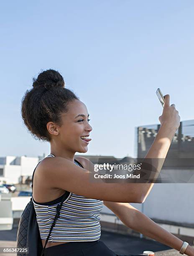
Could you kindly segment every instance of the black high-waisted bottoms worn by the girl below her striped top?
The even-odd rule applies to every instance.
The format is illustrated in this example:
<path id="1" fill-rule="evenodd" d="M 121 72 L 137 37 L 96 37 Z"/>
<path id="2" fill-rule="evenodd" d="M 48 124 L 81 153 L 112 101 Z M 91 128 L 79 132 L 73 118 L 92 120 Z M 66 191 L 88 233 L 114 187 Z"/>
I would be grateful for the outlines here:
<path id="1" fill-rule="evenodd" d="M 102 241 L 69 242 L 45 249 L 45 256 L 121 256 L 111 251 Z M 123 255 L 123 254 L 122 254 Z M 123 255 L 123 256 L 130 256 Z"/>

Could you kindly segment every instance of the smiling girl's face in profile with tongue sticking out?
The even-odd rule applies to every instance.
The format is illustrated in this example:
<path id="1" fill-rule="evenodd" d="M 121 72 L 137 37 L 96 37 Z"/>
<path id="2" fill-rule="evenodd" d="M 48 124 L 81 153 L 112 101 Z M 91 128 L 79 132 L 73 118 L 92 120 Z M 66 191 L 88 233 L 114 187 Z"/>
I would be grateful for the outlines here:
<path id="1" fill-rule="evenodd" d="M 74 100 L 68 105 L 69 111 L 61 114 L 63 124 L 59 127 L 59 140 L 68 151 L 85 153 L 88 143 L 81 139 L 92 131 L 89 114 L 84 103 Z"/>

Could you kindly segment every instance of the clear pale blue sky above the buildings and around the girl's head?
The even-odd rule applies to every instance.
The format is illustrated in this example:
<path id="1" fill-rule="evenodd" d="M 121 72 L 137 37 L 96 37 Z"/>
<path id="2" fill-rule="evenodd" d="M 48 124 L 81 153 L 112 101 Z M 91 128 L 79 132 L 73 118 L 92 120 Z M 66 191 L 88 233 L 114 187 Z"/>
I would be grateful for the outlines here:
<path id="1" fill-rule="evenodd" d="M 32 77 L 56 69 L 86 105 L 86 154 L 134 156 L 135 127 L 159 123 L 156 89 L 194 119 L 194 1 L 0 3 L 0 156 L 49 154 L 20 115 Z"/>

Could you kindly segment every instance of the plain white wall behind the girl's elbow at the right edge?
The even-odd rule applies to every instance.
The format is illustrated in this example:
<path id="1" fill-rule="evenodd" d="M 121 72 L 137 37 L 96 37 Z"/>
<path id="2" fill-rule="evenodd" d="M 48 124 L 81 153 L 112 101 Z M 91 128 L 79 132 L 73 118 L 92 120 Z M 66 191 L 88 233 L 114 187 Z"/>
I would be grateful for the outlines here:
<path id="1" fill-rule="evenodd" d="M 130 203 L 146 216 L 194 225 L 194 184 L 154 184 L 143 204 Z M 111 213 L 107 207 L 102 212 Z"/>

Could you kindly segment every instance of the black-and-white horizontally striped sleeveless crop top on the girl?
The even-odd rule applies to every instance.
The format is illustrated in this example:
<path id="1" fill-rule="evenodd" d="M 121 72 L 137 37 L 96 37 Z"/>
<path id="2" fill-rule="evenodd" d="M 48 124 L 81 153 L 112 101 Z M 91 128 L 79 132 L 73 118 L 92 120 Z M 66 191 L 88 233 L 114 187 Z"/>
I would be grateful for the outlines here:
<path id="1" fill-rule="evenodd" d="M 46 157 L 52 156 L 54 155 Z M 76 161 L 74 163 L 79 165 Z M 62 197 L 63 195 L 50 202 L 38 203 L 33 200 L 32 196 L 41 239 L 46 240 L 56 215 L 56 207 L 61 203 Z M 101 200 L 88 199 L 71 192 L 63 202 L 60 216 L 48 241 L 81 242 L 100 239 L 100 211 L 102 207 L 103 201 Z"/>

